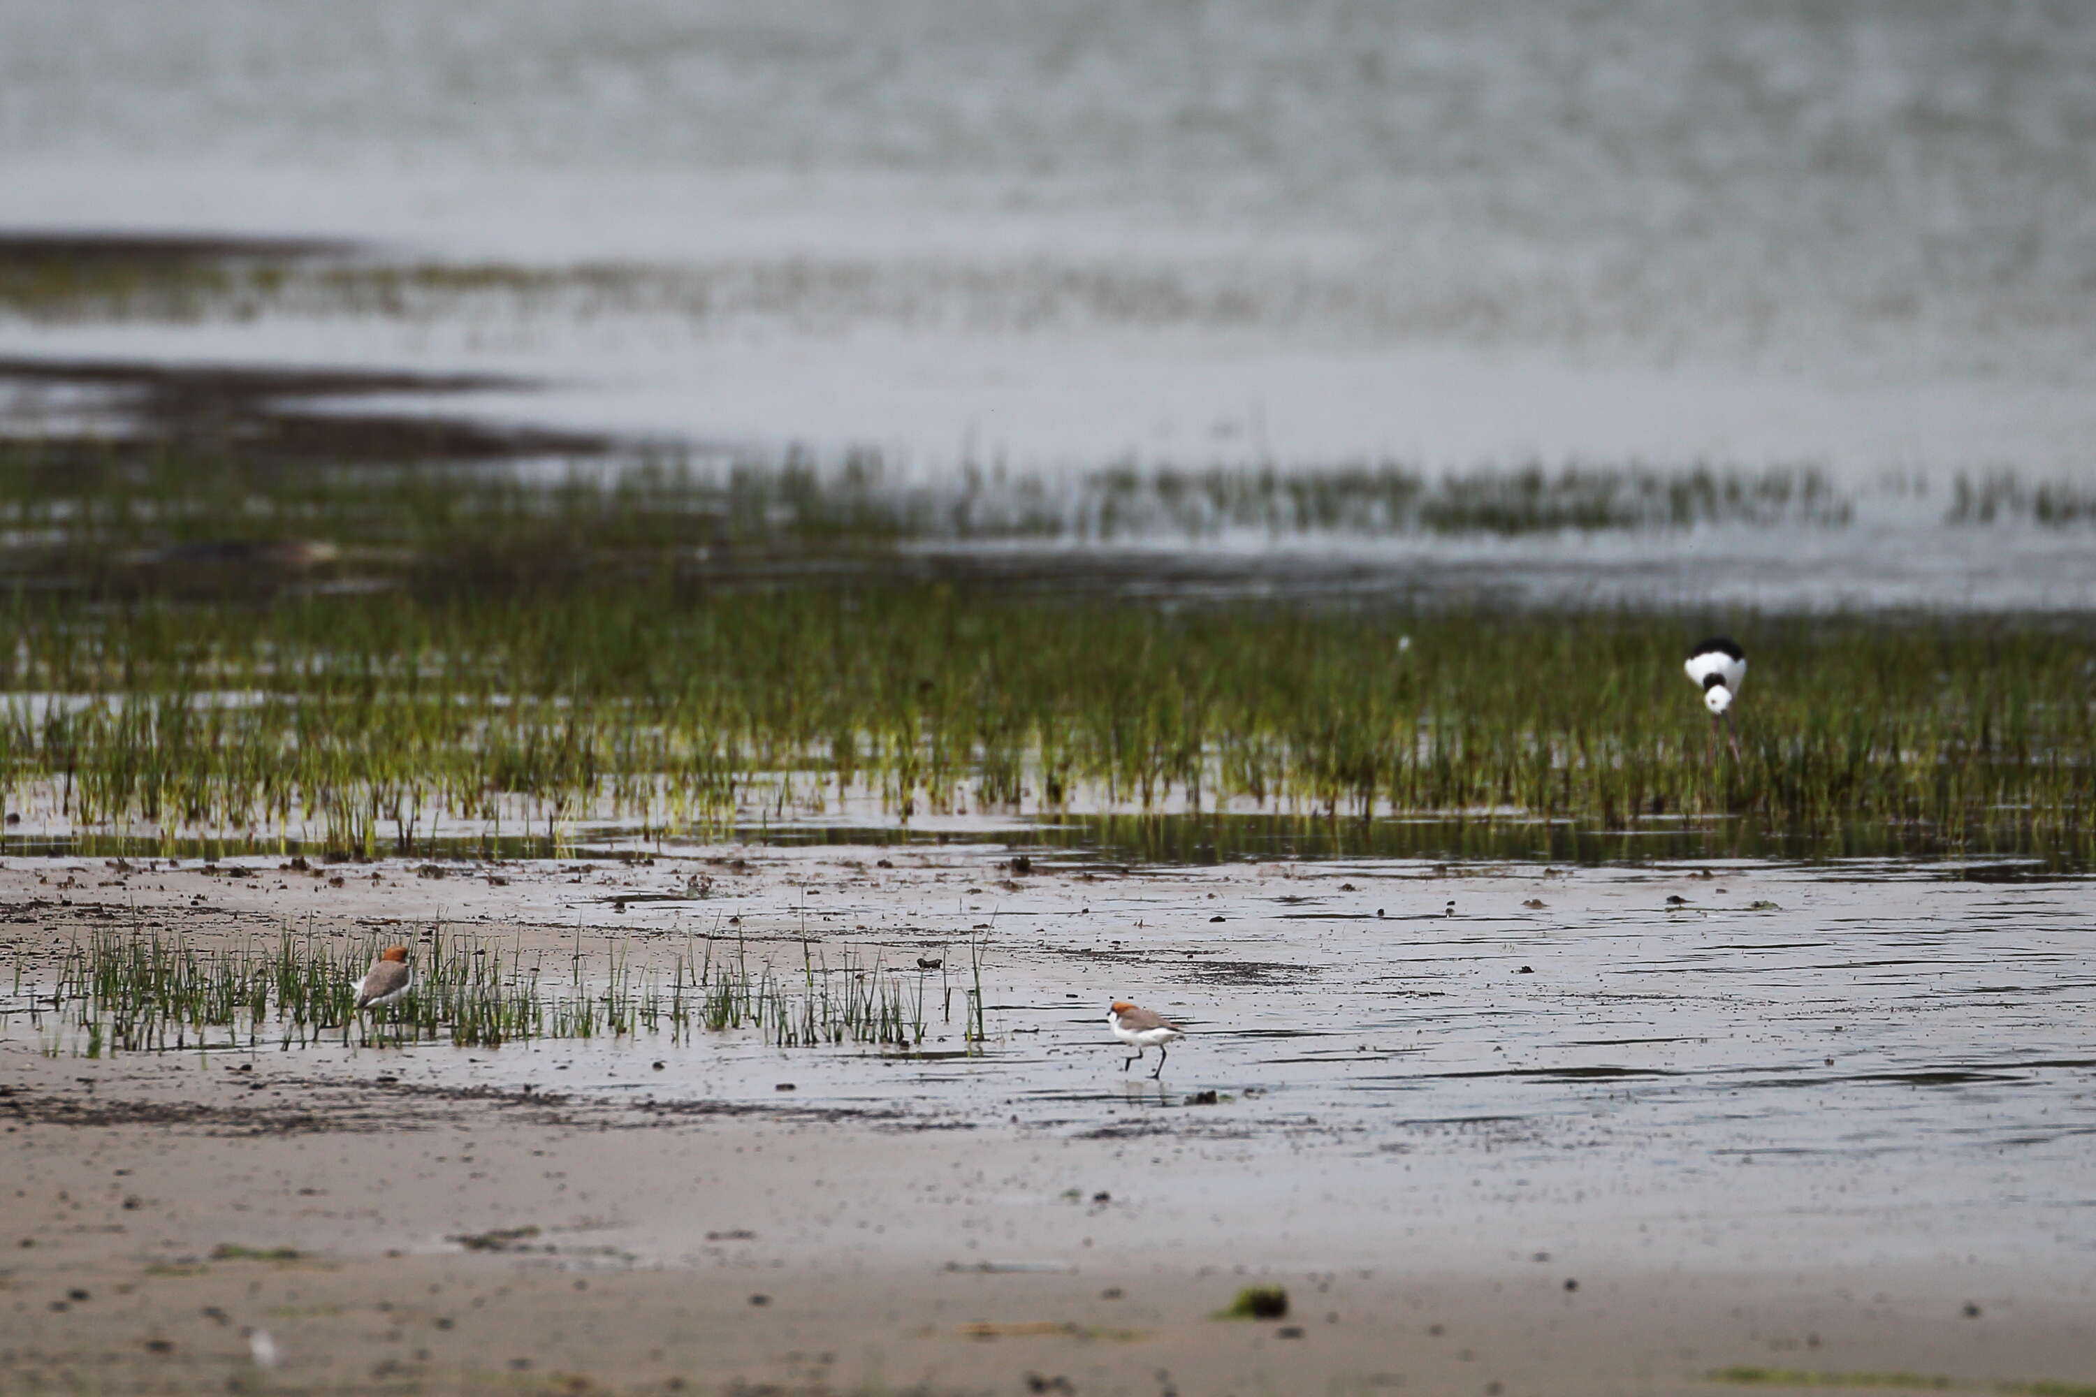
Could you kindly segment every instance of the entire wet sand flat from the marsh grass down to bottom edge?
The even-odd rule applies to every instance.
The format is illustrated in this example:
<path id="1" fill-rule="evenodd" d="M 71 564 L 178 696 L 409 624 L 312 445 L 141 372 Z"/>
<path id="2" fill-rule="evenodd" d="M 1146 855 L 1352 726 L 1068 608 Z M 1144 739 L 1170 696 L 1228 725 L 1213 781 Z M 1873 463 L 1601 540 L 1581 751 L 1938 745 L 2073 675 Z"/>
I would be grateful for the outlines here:
<path id="1" fill-rule="evenodd" d="M 740 934 L 782 966 L 803 936 L 895 963 L 964 959 L 973 934 L 989 1054 L 700 1035 L 86 1060 L 38 1054 L 17 1016 L 6 1391 L 2096 1382 L 2079 880 L 1012 873 L 960 846 L 243 863 L 260 875 L 15 859 L 4 930 L 413 940 L 440 913 L 643 957 Z M 669 901 L 694 875 L 708 894 Z M 1191 1020 L 1163 1083 L 1123 1074 L 1115 995 Z M 956 1039 L 935 1020 L 924 1047 Z M 1249 1282 L 1285 1286 L 1287 1320 L 1211 1317 Z"/>

